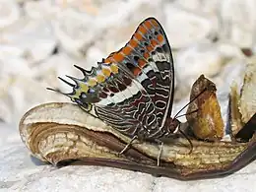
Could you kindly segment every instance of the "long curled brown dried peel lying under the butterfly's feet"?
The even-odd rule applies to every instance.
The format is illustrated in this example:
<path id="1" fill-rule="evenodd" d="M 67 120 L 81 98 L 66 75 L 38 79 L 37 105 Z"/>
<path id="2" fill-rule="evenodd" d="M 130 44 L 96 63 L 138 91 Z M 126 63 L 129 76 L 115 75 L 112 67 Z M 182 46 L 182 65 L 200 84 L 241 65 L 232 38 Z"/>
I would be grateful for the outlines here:
<path id="1" fill-rule="evenodd" d="M 254 127 L 254 121 L 247 127 Z M 21 120 L 23 142 L 39 160 L 58 164 L 83 160 L 81 164 L 112 167 L 164 175 L 181 180 L 230 174 L 255 158 L 256 142 L 200 142 L 191 139 L 193 152 L 187 154 L 185 138 L 164 145 L 157 166 L 158 144 L 138 143 L 122 156 L 118 153 L 130 140 L 76 104 L 46 103 L 28 111 Z M 186 146 L 187 145 L 187 146 Z"/>

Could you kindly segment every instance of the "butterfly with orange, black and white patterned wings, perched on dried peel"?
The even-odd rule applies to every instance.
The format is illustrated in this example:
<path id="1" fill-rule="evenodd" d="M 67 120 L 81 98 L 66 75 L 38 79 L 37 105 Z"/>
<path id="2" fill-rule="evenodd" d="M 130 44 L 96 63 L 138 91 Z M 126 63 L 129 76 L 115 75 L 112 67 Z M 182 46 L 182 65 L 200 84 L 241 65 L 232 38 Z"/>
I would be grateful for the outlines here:
<path id="1" fill-rule="evenodd" d="M 124 47 L 97 62 L 90 71 L 76 66 L 83 79 L 59 78 L 73 88 L 69 96 L 86 111 L 131 138 L 161 144 L 180 122 L 171 118 L 174 67 L 171 48 L 160 22 L 143 21 Z M 59 92 L 59 91 L 58 91 Z M 160 150 L 161 152 L 161 150 Z M 160 163 L 160 155 L 158 164 Z"/>

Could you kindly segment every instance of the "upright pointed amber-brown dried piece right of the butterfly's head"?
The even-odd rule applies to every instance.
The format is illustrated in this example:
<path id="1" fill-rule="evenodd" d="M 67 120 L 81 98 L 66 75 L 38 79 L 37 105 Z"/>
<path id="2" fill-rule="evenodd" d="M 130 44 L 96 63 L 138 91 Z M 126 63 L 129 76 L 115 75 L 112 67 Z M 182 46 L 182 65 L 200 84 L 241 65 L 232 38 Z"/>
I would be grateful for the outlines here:
<path id="1" fill-rule="evenodd" d="M 190 100 L 196 96 L 198 97 L 189 104 L 186 112 L 193 133 L 203 140 L 221 140 L 224 136 L 224 121 L 215 84 L 201 75 L 192 86 Z M 197 111 L 193 112 L 195 110 Z"/>

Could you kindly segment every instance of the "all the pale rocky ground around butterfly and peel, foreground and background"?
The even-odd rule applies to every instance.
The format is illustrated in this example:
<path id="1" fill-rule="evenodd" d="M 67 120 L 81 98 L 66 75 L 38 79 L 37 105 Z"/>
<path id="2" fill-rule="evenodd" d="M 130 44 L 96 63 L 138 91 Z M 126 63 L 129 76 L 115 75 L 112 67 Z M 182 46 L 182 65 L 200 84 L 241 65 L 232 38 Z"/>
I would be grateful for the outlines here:
<path id="1" fill-rule="evenodd" d="M 18 124 L 32 106 L 69 101 L 57 76 L 81 74 L 118 50 L 141 21 L 156 17 L 172 47 L 175 104 L 204 74 L 222 108 L 229 86 L 255 62 L 254 0 L 0 0 L 0 191 L 256 191 L 256 163 L 221 179 L 181 182 L 98 166 L 56 168 L 30 157 Z M 225 113 L 224 113 L 225 114 Z"/>

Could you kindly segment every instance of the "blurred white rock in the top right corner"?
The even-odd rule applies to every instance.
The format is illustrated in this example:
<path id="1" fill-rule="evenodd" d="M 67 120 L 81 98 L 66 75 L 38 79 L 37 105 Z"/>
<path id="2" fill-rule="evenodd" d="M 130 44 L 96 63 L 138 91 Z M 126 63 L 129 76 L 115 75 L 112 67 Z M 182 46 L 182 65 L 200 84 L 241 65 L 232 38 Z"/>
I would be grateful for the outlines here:
<path id="1" fill-rule="evenodd" d="M 255 44 L 256 2 L 254 0 L 226 0 L 220 7 L 222 38 L 239 47 Z"/>

